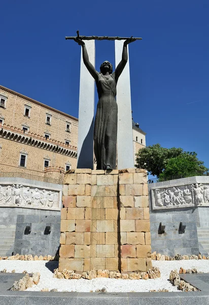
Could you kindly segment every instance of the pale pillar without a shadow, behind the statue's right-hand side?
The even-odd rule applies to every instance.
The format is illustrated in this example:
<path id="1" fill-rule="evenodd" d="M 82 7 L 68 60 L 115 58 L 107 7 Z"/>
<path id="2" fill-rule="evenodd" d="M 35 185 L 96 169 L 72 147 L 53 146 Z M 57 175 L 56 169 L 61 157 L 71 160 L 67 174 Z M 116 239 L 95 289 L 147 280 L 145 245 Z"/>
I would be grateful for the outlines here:
<path id="1" fill-rule="evenodd" d="M 121 61 L 124 40 L 115 40 L 115 66 Z M 128 51 L 128 46 L 127 46 Z M 133 132 L 131 116 L 130 71 L 128 62 L 117 84 L 118 101 L 118 169 L 133 168 Z"/>

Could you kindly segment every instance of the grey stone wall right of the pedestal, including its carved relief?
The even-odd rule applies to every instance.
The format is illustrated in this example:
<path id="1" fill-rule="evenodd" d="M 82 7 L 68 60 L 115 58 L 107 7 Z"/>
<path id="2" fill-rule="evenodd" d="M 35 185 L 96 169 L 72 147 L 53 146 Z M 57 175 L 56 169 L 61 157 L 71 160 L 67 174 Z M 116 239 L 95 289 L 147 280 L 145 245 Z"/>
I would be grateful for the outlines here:
<path id="1" fill-rule="evenodd" d="M 149 184 L 152 251 L 169 256 L 203 253 L 197 228 L 209 228 L 208 192 L 208 176 Z"/>

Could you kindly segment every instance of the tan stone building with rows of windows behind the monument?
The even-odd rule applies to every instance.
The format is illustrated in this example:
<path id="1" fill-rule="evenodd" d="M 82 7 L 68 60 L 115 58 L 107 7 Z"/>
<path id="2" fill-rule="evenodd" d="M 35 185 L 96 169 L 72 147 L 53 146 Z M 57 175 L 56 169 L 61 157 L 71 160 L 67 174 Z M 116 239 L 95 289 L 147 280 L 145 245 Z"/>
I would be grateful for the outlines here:
<path id="1" fill-rule="evenodd" d="M 77 166 L 78 118 L 0 85 L 0 172 L 44 176 Z M 134 156 L 145 133 L 132 122 Z M 133 158 L 134 158 L 133 156 Z"/>

